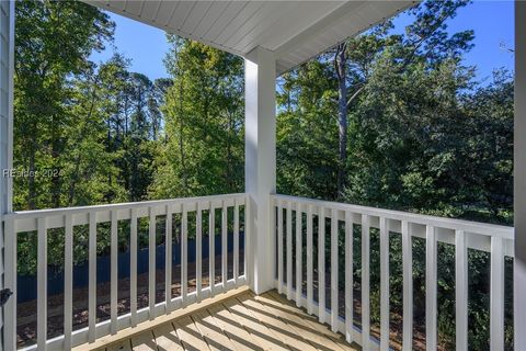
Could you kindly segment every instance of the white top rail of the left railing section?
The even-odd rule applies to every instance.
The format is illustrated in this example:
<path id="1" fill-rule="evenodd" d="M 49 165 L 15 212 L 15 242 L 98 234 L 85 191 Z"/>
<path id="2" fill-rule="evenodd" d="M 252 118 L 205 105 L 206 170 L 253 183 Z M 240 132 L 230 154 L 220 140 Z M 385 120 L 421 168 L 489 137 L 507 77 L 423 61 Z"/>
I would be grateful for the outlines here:
<path id="1" fill-rule="evenodd" d="M 104 212 L 104 211 L 114 211 L 114 210 L 129 210 L 129 208 L 139 208 L 139 207 L 158 207 L 170 204 L 183 204 L 183 203 L 196 203 L 196 202 L 210 202 L 210 201 L 222 201 L 230 200 L 236 197 L 244 197 L 244 193 L 236 194 L 221 194 L 221 195 L 209 195 L 209 196 L 196 196 L 196 197 L 178 197 L 178 199 L 165 199 L 165 200 L 153 200 L 153 201 L 141 201 L 141 202 L 128 202 L 128 203 L 117 203 L 117 204 L 105 204 L 105 205 L 92 205 L 92 206 L 77 206 L 77 207 L 60 207 L 60 208 L 46 208 L 46 210 L 32 210 L 32 211 L 18 211 L 3 215 L 3 219 L 23 219 L 23 218 L 33 218 L 33 217 L 46 217 L 46 216 L 58 216 L 65 214 L 80 214 L 89 212 Z"/>

